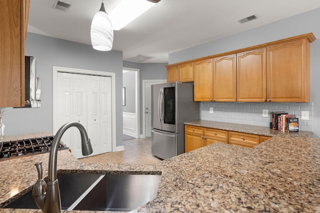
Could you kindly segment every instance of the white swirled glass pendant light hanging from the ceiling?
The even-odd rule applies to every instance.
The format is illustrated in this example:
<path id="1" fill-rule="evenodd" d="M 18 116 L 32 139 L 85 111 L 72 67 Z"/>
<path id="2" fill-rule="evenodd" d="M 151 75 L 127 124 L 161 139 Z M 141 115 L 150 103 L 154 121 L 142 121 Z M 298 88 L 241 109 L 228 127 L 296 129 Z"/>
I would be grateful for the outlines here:
<path id="1" fill-rule="evenodd" d="M 91 43 L 94 49 L 109 51 L 113 44 L 113 28 L 108 14 L 105 12 L 103 0 L 91 22 Z"/>

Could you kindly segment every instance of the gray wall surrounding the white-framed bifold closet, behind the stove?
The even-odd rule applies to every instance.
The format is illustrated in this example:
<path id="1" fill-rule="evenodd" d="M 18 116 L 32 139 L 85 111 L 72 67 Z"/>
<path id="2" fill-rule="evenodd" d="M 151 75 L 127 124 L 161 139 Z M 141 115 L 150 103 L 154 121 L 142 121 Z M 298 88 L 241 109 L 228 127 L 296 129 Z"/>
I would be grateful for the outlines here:
<path id="1" fill-rule="evenodd" d="M 52 66 L 64 66 L 115 73 L 116 145 L 123 144 L 121 51 L 97 51 L 91 45 L 27 33 L 25 55 L 36 57 L 36 72 L 41 78 L 41 107 L 7 108 L 3 117 L 6 135 L 52 132 Z"/>

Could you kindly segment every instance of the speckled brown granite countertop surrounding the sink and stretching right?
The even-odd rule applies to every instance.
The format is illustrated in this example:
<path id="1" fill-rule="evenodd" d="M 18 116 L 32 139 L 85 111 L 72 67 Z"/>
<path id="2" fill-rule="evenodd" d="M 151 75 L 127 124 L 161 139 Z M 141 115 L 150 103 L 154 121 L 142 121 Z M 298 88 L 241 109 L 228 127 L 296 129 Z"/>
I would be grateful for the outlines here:
<path id="1" fill-rule="evenodd" d="M 219 122 L 192 123 L 233 131 L 238 127 Z M 80 163 L 70 152 L 61 150 L 57 169 L 161 172 L 157 197 L 132 212 L 320 212 L 320 139 L 309 137 L 312 132 L 266 131 L 264 127 L 242 129 L 244 133 L 273 136 L 250 149 L 217 142 L 154 164 Z M 32 187 L 37 178 L 33 164 L 39 160 L 46 176 L 48 153 L 0 162 L 0 206 L 10 199 L 13 189 L 23 193 Z M 40 210 L 1 208 L 0 212 Z"/>

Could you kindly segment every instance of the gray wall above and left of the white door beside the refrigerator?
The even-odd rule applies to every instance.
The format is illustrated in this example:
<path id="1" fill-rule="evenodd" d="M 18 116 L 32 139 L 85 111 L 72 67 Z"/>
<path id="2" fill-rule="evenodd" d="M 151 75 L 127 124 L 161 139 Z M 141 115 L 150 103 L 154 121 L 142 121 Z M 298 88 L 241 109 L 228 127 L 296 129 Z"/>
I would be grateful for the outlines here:
<path id="1" fill-rule="evenodd" d="M 142 106 L 142 80 L 145 79 L 166 79 L 166 67 L 167 63 L 134 63 L 130 61 L 123 61 L 123 67 L 139 69 L 139 89 L 140 89 L 140 134 L 143 134 L 143 120 L 144 113 Z"/>

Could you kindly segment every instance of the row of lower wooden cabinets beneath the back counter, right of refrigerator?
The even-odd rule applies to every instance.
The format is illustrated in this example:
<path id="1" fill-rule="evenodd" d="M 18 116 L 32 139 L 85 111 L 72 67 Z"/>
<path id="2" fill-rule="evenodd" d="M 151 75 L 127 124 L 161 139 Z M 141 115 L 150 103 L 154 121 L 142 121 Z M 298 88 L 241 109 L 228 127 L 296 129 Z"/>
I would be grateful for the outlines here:
<path id="1" fill-rule="evenodd" d="M 246 148 L 264 142 L 271 137 L 247 134 L 236 131 L 226 131 L 192 125 L 184 126 L 184 151 L 188 152 L 215 142 L 228 143 Z"/>

